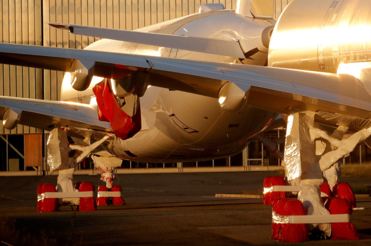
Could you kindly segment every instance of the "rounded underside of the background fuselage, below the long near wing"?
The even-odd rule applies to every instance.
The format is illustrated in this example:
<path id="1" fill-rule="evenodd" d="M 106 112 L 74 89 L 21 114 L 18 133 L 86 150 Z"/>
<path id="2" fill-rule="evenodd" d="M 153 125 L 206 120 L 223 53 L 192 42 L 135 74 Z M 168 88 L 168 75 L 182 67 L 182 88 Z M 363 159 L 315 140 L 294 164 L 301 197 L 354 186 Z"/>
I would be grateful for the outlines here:
<path id="1" fill-rule="evenodd" d="M 215 98 L 161 89 L 142 116 L 146 129 L 126 141 L 117 140 L 112 154 L 147 162 L 233 155 L 276 114 L 249 106 L 225 112 Z"/>

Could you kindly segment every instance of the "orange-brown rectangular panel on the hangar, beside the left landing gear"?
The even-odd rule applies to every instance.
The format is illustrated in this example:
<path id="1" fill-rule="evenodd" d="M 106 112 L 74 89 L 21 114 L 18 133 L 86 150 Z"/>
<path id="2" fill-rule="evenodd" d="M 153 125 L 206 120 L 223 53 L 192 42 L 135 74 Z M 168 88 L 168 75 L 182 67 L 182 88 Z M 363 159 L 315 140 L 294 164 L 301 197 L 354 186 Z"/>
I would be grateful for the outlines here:
<path id="1" fill-rule="evenodd" d="M 41 166 L 41 148 L 41 134 L 25 134 L 25 166 Z"/>

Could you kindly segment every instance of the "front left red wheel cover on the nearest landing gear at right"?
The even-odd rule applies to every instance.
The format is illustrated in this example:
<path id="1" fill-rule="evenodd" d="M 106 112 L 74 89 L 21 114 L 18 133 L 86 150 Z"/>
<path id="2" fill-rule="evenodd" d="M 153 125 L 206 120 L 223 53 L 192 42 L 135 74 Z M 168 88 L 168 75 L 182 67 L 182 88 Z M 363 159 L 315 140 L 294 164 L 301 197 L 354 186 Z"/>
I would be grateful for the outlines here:
<path id="1" fill-rule="evenodd" d="M 272 211 L 278 215 L 306 215 L 306 211 L 299 200 L 279 198 L 273 201 Z M 284 242 L 301 242 L 308 240 L 306 224 L 273 223 L 272 239 Z"/>

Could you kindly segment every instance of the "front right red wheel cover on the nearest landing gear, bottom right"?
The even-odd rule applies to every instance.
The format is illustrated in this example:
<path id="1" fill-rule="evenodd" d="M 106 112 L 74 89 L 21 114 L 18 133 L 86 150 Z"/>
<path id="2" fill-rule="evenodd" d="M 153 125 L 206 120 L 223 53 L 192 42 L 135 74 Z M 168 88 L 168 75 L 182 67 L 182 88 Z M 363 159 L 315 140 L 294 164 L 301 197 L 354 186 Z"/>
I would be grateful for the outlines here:
<path id="1" fill-rule="evenodd" d="M 352 214 L 352 205 L 348 200 L 338 197 L 328 198 L 325 207 L 330 214 Z M 350 222 L 331 223 L 331 240 L 359 240 L 359 235 L 354 225 Z"/>

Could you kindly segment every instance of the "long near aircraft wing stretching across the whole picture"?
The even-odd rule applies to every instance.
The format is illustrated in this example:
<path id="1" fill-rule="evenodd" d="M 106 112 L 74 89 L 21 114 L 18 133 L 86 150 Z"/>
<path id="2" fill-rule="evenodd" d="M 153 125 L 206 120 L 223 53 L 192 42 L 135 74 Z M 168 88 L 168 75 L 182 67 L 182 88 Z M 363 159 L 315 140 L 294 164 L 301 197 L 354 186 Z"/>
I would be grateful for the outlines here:
<path id="1" fill-rule="evenodd" d="M 230 81 L 245 92 L 248 104 L 283 114 L 298 108 L 371 118 L 371 97 L 362 81 L 350 75 L 0 44 L 0 63 L 70 71 L 74 59 L 95 61 L 97 76 L 110 76 L 112 69 L 131 70 L 148 75 L 151 85 L 215 98 Z"/>

